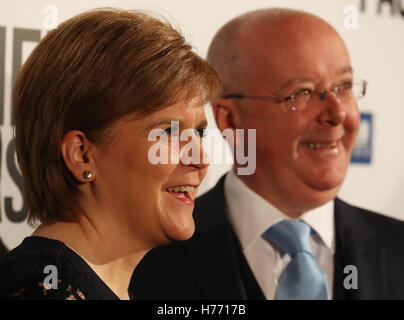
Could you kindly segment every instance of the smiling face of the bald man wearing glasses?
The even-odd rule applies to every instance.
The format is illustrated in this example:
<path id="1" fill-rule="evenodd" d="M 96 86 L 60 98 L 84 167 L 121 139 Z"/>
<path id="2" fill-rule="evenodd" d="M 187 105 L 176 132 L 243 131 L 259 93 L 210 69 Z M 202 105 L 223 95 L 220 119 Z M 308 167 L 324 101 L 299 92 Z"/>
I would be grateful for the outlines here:
<path id="1" fill-rule="evenodd" d="M 305 88 L 320 92 L 353 81 L 345 45 L 329 29 L 292 28 L 279 41 L 263 33 L 246 56 L 250 81 L 241 91 L 249 95 L 285 97 Z M 239 126 L 257 130 L 257 170 L 245 177 L 250 186 L 294 216 L 336 196 L 359 127 L 354 98 L 339 101 L 328 93 L 324 101 L 315 98 L 303 111 L 290 111 L 286 103 L 271 100 L 237 103 Z"/>

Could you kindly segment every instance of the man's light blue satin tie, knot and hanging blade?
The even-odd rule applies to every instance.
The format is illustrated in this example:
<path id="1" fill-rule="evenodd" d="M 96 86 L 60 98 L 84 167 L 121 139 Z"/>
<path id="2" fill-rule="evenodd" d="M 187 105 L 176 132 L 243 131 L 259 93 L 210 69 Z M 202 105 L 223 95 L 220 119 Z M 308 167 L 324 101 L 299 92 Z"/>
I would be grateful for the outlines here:
<path id="1" fill-rule="evenodd" d="M 323 271 L 313 257 L 311 228 L 301 220 L 283 220 L 262 235 L 281 255 L 291 261 L 279 278 L 275 300 L 327 300 L 328 287 Z"/>

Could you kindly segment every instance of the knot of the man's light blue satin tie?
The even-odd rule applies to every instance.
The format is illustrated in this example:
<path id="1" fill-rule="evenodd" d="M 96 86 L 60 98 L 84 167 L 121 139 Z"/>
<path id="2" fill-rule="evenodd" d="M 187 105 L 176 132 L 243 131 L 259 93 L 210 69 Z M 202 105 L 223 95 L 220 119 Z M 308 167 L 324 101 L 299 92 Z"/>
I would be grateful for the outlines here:
<path id="1" fill-rule="evenodd" d="M 281 254 L 293 257 L 296 252 L 312 254 L 310 245 L 310 226 L 301 220 L 283 220 L 264 232 L 262 237 L 275 244 Z"/>

